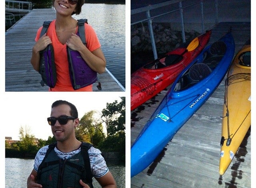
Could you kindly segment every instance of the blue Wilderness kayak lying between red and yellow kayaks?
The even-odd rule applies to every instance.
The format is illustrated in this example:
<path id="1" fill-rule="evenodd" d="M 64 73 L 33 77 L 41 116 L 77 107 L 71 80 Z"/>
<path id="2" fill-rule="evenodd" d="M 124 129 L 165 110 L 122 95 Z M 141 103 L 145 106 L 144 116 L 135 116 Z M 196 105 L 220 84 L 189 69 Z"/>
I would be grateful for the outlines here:
<path id="1" fill-rule="evenodd" d="M 131 177 L 147 168 L 177 131 L 210 98 L 235 53 L 231 33 L 207 46 L 176 78 L 131 147 Z"/>

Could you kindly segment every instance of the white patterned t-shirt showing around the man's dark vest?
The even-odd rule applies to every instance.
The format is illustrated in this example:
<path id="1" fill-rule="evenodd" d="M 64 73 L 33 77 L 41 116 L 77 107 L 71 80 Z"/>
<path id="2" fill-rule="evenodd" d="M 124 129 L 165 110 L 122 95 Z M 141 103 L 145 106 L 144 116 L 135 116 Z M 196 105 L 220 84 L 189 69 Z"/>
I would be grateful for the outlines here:
<path id="1" fill-rule="evenodd" d="M 48 146 L 44 146 L 38 151 L 35 157 L 35 162 L 34 162 L 34 169 L 36 171 L 38 171 L 38 167 L 42 163 L 42 160 L 44 159 L 47 150 L 48 150 Z M 72 156 L 79 153 L 81 151 L 81 147 L 79 147 L 77 150 L 67 152 L 67 153 L 59 151 L 57 147 L 54 148 L 54 151 L 59 156 L 59 158 L 69 159 Z M 105 159 L 101 155 L 101 151 L 99 149 L 95 147 L 90 147 L 88 150 L 88 154 L 90 158 L 93 177 L 100 178 L 104 176 L 107 172 L 109 172 L 109 168 L 107 167 Z"/>

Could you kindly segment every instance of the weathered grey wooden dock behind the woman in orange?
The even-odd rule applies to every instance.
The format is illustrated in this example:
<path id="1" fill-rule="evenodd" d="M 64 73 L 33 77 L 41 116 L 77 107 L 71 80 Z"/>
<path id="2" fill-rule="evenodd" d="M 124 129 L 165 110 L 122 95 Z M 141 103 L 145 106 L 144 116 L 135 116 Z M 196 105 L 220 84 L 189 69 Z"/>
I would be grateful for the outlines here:
<path id="1" fill-rule="evenodd" d="M 30 58 L 38 28 L 55 17 L 52 8 L 33 9 L 5 33 L 5 91 L 48 91 L 48 86 L 41 86 L 42 78 L 33 69 Z M 101 91 L 125 91 L 108 69 L 98 78 Z M 93 84 L 93 91 L 99 91 L 97 85 Z"/>

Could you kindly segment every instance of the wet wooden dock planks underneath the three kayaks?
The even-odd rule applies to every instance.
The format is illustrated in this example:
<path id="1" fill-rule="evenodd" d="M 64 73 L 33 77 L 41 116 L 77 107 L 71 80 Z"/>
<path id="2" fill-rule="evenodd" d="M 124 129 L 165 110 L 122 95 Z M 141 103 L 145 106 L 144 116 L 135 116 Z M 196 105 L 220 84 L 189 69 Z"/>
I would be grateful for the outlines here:
<path id="1" fill-rule="evenodd" d="M 222 37 L 230 27 L 237 53 L 251 36 L 250 22 L 218 24 L 212 29 L 209 44 Z M 158 158 L 143 172 L 131 178 L 131 188 L 251 188 L 250 130 L 227 172 L 223 176 L 218 173 L 224 79 Z M 169 88 L 131 111 L 131 144 Z"/>

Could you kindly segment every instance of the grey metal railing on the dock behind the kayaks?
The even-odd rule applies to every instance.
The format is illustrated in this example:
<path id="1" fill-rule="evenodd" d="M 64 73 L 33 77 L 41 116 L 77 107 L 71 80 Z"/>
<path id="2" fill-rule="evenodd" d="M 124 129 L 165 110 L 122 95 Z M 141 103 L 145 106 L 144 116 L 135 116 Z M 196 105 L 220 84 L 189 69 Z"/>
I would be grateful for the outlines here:
<path id="1" fill-rule="evenodd" d="M 158 57 L 157 57 L 157 52 L 156 52 L 156 47 L 155 47 L 155 37 L 154 37 L 154 32 L 153 32 L 153 27 L 152 27 L 152 23 L 153 23 L 153 19 L 154 18 L 157 18 L 157 17 L 160 17 L 160 16 L 164 16 L 164 15 L 170 14 L 172 12 L 179 11 L 180 12 L 180 25 L 181 25 L 181 32 L 182 32 L 182 41 L 185 43 L 186 42 L 186 40 L 185 40 L 185 26 L 184 26 L 184 16 L 183 16 L 184 9 L 192 7 L 192 6 L 196 5 L 196 4 L 200 4 L 201 8 L 199 10 L 194 9 L 194 11 L 201 11 L 201 28 L 202 28 L 202 33 L 205 32 L 204 1 L 207 1 L 207 0 L 196 0 L 196 2 L 194 2 L 192 4 L 188 4 L 188 5 L 183 6 L 182 2 L 184 2 L 184 1 L 189 1 L 189 0 L 170 0 L 170 1 L 166 1 L 164 3 L 153 4 L 153 5 L 149 5 L 147 7 L 137 8 L 137 9 L 131 10 L 131 15 L 135 15 L 135 14 L 138 14 L 138 13 L 145 12 L 145 14 L 147 16 L 147 18 L 140 19 L 138 21 L 132 22 L 132 20 L 131 20 L 131 25 L 135 25 L 135 24 L 147 21 L 148 26 L 149 26 L 150 37 L 151 37 L 151 45 L 152 45 L 152 49 L 153 49 L 153 53 L 154 53 L 154 58 L 155 59 L 157 59 Z M 218 0 L 214 0 L 214 1 L 215 1 L 215 9 L 216 9 L 215 24 L 218 24 Z M 164 12 L 164 13 L 161 12 L 158 15 L 151 16 L 151 11 L 153 11 L 153 10 L 155 10 L 157 8 L 163 8 L 165 6 L 173 5 L 173 4 L 178 4 L 179 8 L 175 8 L 172 11 L 167 11 L 167 12 Z"/>

